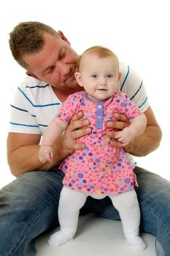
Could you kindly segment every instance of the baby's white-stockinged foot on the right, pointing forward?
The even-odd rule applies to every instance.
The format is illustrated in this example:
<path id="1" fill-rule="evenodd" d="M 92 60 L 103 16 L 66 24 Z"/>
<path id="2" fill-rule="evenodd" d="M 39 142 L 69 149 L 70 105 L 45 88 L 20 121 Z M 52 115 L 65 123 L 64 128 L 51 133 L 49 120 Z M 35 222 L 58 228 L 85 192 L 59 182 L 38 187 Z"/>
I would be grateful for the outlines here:
<path id="1" fill-rule="evenodd" d="M 126 239 L 126 241 L 128 242 L 129 248 L 133 252 L 142 252 L 147 247 L 147 245 L 144 243 L 142 238 L 140 238 L 139 236 L 134 236 L 133 238 L 128 238 L 128 239 Z"/>

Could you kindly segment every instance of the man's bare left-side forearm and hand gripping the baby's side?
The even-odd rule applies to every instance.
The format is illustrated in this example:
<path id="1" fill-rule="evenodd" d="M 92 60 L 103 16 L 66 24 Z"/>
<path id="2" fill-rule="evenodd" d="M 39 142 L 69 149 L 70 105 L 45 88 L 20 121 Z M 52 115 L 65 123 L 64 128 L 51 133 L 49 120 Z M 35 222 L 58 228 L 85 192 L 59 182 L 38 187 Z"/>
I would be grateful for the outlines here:
<path id="1" fill-rule="evenodd" d="M 53 162 L 42 164 L 39 161 L 39 141 L 41 135 L 9 132 L 7 138 L 7 158 L 9 167 L 14 176 L 20 176 L 31 170 L 50 170 L 61 160 L 72 154 L 74 150 L 85 148 L 85 143 L 76 143 L 76 139 L 91 132 L 87 127 L 90 123 L 87 118 L 81 119 L 82 112 L 77 113 L 64 135 L 56 140 L 53 146 Z"/>

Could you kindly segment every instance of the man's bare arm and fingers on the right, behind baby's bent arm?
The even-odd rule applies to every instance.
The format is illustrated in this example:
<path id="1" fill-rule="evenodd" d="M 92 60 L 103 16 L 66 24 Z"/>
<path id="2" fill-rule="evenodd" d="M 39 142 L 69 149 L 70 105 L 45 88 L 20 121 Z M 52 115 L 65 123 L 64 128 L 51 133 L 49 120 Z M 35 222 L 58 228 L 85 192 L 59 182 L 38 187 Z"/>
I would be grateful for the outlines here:
<path id="1" fill-rule="evenodd" d="M 152 112 L 152 109 L 149 107 L 144 112 L 145 116 L 147 117 L 147 127 L 145 131 L 136 138 L 132 143 L 129 143 L 128 146 L 125 146 L 124 149 L 126 152 L 133 154 L 136 157 L 144 157 L 147 154 L 150 154 L 154 151 L 161 142 L 161 128 L 158 126 L 158 123 L 155 119 L 155 115 Z M 115 119 L 117 121 L 108 121 L 107 126 L 112 129 L 123 129 L 128 127 L 129 122 L 126 116 L 116 113 Z M 115 138 L 116 132 L 109 131 L 107 132 L 107 136 L 109 138 Z M 122 143 L 112 140 L 112 146 L 117 146 L 122 148 Z"/>

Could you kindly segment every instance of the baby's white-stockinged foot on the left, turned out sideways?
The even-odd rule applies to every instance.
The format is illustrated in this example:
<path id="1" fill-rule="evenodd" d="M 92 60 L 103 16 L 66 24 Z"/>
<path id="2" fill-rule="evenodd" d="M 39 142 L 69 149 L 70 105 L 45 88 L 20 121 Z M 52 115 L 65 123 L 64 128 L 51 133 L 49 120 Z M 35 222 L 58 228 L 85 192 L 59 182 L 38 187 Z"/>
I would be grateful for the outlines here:
<path id="1" fill-rule="evenodd" d="M 62 231 L 58 231 L 50 236 L 48 244 L 50 244 L 50 246 L 61 246 L 69 241 L 72 241 L 72 238 L 72 236 L 66 236 Z"/>

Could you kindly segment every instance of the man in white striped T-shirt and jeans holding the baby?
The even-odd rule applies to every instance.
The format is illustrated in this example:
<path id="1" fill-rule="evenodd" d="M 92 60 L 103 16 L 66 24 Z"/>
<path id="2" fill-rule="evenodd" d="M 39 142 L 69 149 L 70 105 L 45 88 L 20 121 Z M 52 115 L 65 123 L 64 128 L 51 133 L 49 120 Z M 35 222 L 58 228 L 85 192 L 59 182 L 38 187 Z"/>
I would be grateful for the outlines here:
<path id="1" fill-rule="evenodd" d="M 63 173 L 56 167 L 74 150 L 85 148 L 76 139 L 90 134 L 88 119 L 83 113 L 72 118 L 66 132 L 53 146 L 53 162 L 39 162 L 39 142 L 45 127 L 55 116 L 61 102 L 81 88 L 77 85 L 77 53 L 61 31 L 58 33 L 42 23 L 20 23 L 10 34 L 12 55 L 28 70 L 12 102 L 11 128 L 7 138 L 8 161 L 12 174 L 17 176 L 1 189 L 1 244 L 0 254 L 35 255 L 34 241 L 43 231 L 58 225 L 56 208 L 62 188 Z M 147 117 L 147 129 L 125 151 L 145 156 L 158 148 L 161 129 L 147 101 L 140 78 L 123 65 L 120 67 L 120 90 L 128 94 Z M 114 129 L 128 126 L 123 115 L 115 113 L 117 121 L 108 121 L 107 132 L 112 146 L 121 147 Z M 155 234 L 158 256 L 169 255 L 170 183 L 142 168 L 134 170 L 139 187 L 136 193 L 142 214 L 141 228 Z M 94 200 L 89 197 L 82 213 L 95 212 L 100 217 L 119 218 L 109 198 Z"/>

